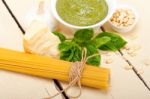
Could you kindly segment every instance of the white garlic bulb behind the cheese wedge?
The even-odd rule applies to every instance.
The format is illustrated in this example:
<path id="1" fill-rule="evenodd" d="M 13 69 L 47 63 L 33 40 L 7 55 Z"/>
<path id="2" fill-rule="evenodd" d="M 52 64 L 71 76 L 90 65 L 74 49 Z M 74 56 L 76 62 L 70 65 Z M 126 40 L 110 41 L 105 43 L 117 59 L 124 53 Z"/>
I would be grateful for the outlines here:
<path id="1" fill-rule="evenodd" d="M 41 21 L 48 25 L 50 31 L 55 30 L 58 21 L 52 16 L 49 0 L 40 0 L 39 3 L 29 11 L 27 16 L 24 17 L 23 26 L 25 30 L 30 27 L 33 21 Z"/>

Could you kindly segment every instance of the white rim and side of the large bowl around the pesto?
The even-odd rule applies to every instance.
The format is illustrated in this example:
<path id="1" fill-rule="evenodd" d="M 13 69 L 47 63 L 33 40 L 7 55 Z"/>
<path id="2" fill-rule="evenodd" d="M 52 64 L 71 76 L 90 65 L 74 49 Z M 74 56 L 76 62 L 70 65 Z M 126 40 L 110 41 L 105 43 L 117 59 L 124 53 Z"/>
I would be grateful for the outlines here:
<path id="1" fill-rule="evenodd" d="M 58 15 L 57 11 L 56 11 L 56 2 L 57 0 L 51 0 L 51 11 L 52 11 L 52 15 L 56 18 L 56 20 L 58 20 L 61 24 L 65 25 L 65 27 L 71 28 L 71 29 L 87 29 L 87 28 L 99 28 L 100 26 L 102 26 L 105 22 L 107 22 L 113 15 L 114 11 L 115 11 L 115 7 L 116 7 L 116 1 L 115 0 L 106 0 L 107 4 L 108 4 L 108 14 L 107 16 L 100 22 L 98 22 L 97 24 L 91 25 L 91 26 L 75 26 L 72 24 L 69 24 L 67 22 L 65 22 L 64 20 L 62 20 L 60 18 L 60 16 Z"/>

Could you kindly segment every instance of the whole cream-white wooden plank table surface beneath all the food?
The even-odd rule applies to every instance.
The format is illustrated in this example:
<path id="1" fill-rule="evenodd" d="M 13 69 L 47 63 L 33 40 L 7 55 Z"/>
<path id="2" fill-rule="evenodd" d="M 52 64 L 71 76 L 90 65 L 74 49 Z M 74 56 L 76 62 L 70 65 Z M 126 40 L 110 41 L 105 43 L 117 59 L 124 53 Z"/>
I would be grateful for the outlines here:
<path id="1" fill-rule="evenodd" d="M 38 3 L 37 0 L 5 0 L 12 13 L 17 18 L 19 24 L 24 28 L 22 18 Z M 150 55 L 150 28 L 149 18 L 150 10 L 149 0 L 118 0 L 118 3 L 126 3 L 134 6 L 140 15 L 140 21 L 137 28 L 128 33 L 122 34 L 129 40 L 129 43 L 138 43 L 142 46 L 136 57 L 126 57 L 128 61 L 137 70 L 143 70 L 140 74 L 144 82 L 150 87 L 150 66 L 145 66 L 143 60 Z M 104 29 L 113 31 L 107 24 Z M 23 51 L 22 31 L 0 1 L 0 47 L 18 51 Z M 118 52 L 119 53 L 119 52 Z M 105 61 L 111 58 L 112 64 L 105 64 Z M 125 70 L 127 61 L 120 54 L 112 53 L 111 56 L 102 55 L 102 66 L 111 69 L 111 87 L 108 92 L 84 87 L 80 99 L 150 99 L 150 91 L 136 75 L 134 70 Z M 59 82 L 62 87 L 67 84 Z M 58 85 L 53 80 L 47 80 L 37 77 L 31 77 L 12 72 L 0 70 L 0 99 L 42 99 L 48 96 L 45 89 L 48 89 L 50 95 L 58 92 Z M 71 90 L 72 94 L 77 93 L 76 88 Z M 64 94 L 55 99 L 64 98 Z M 67 98 L 64 98 L 67 99 Z"/>

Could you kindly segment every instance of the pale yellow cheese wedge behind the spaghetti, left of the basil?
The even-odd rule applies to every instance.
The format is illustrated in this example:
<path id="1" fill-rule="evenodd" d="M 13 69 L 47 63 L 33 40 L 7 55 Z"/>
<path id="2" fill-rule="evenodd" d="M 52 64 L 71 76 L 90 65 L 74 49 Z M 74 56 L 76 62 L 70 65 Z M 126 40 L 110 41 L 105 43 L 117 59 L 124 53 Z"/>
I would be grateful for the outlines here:
<path id="1" fill-rule="evenodd" d="M 33 21 L 24 35 L 23 43 L 25 52 L 59 58 L 60 40 L 44 22 Z"/>

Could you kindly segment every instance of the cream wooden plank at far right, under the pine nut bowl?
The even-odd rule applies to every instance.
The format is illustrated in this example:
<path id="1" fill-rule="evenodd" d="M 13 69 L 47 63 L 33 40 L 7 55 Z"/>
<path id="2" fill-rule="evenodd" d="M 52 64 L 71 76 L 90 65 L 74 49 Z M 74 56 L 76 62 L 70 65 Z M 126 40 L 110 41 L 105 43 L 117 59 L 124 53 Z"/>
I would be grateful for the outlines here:
<path id="1" fill-rule="evenodd" d="M 150 1 L 118 0 L 118 2 L 119 4 L 125 3 L 133 6 L 139 14 L 140 19 L 136 28 L 129 33 L 120 34 L 128 40 L 129 46 L 139 46 L 141 48 L 134 57 L 128 55 L 124 50 L 122 51 L 150 87 L 150 10 L 148 10 Z M 108 24 L 105 24 L 105 29 L 113 31 Z"/>

